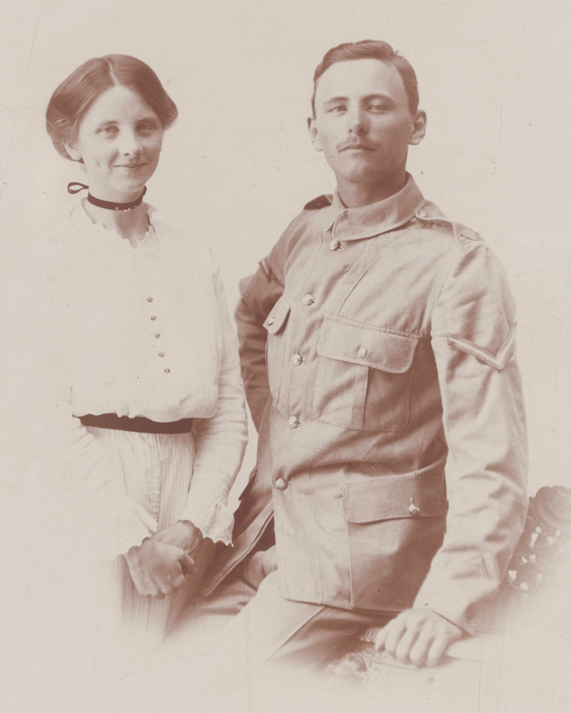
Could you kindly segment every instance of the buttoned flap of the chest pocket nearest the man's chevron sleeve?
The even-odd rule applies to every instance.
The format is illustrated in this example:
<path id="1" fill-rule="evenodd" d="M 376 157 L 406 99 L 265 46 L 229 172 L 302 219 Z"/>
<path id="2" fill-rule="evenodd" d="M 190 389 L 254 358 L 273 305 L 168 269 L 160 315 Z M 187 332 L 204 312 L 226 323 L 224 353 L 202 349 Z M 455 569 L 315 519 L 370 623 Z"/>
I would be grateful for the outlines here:
<path id="1" fill-rule="evenodd" d="M 418 339 L 415 334 L 325 314 L 317 351 L 328 359 L 404 374 L 413 363 Z"/>

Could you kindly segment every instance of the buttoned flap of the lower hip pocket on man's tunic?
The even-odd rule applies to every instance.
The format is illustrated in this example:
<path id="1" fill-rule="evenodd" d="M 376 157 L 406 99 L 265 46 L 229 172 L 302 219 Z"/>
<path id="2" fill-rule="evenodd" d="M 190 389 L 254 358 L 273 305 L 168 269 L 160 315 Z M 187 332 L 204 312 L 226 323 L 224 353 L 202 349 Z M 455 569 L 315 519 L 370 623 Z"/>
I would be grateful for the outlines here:
<path id="1" fill-rule="evenodd" d="M 380 476 L 343 486 L 343 512 L 349 523 L 431 518 L 446 511 L 444 473 Z"/>

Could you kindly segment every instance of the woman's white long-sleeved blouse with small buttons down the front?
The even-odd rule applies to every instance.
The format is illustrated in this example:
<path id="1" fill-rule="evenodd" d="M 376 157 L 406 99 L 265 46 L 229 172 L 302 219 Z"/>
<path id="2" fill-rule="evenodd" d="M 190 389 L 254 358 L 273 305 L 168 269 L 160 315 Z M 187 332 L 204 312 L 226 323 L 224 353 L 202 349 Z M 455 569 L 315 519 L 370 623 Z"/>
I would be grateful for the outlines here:
<path id="1" fill-rule="evenodd" d="M 133 248 L 91 222 L 84 200 L 13 275 L 12 388 L 25 389 L 33 404 L 25 424 L 36 434 L 32 470 L 51 473 L 54 488 L 71 493 L 85 545 L 114 557 L 157 524 L 116 486 L 78 417 L 196 419 L 180 519 L 230 543 L 228 491 L 247 425 L 236 339 L 210 252 L 151 217 L 146 204 L 151 225 Z"/>

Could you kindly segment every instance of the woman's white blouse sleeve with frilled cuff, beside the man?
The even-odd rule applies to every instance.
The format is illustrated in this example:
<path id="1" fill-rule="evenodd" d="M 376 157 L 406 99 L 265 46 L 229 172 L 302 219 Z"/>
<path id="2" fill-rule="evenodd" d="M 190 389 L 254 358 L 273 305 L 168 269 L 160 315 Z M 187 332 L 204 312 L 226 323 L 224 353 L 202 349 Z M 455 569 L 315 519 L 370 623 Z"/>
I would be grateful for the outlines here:
<path id="1" fill-rule="evenodd" d="M 232 541 L 234 523 L 233 513 L 228 508 L 228 493 L 242 465 L 248 424 L 236 337 L 220 275 L 215 279 L 222 329 L 218 404 L 211 419 L 195 419 L 193 424 L 196 446 L 193 477 L 188 501 L 179 519 L 190 520 L 205 537 L 228 545 Z"/>

